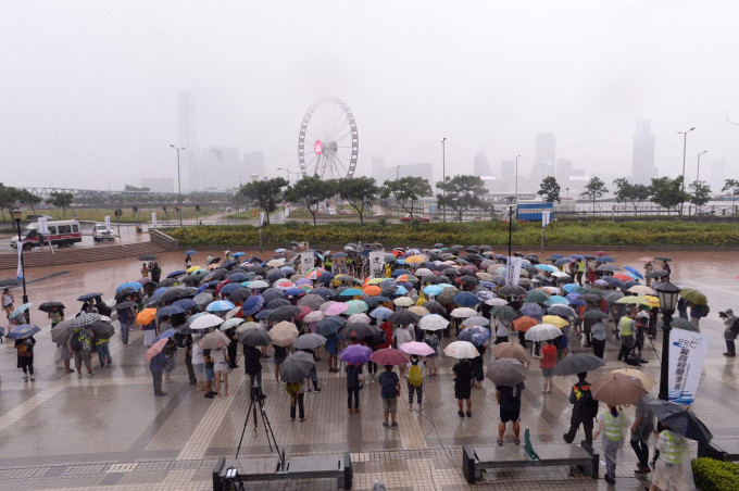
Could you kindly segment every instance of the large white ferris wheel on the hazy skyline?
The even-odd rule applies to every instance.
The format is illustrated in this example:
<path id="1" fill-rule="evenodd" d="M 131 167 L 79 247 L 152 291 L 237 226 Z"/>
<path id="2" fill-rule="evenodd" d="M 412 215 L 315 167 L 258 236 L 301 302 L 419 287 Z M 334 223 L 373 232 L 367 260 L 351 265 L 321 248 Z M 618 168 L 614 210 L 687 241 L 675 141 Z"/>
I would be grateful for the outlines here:
<path id="1" fill-rule="evenodd" d="M 351 109 L 339 98 L 314 101 L 298 137 L 300 172 L 322 179 L 353 177 L 360 140 Z"/>

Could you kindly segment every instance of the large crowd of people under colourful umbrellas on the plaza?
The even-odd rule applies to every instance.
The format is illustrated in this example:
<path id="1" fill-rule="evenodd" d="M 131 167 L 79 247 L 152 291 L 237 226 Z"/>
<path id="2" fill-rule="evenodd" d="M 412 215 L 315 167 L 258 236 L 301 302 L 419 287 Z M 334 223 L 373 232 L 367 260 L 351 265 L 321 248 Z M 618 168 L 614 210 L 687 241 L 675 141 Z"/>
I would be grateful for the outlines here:
<path id="1" fill-rule="evenodd" d="M 459 417 L 471 418 L 473 389 L 479 389 L 485 380 L 484 358 L 491 360 L 490 352 L 499 344 L 519 344 L 539 361 L 544 398 L 554 393 L 553 372 L 561 360 L 573 351 L 588 350 L 603 358 L 610 337 L 619 344 L 617 361 L 634 366 L 648 363 L 642 355 L 644 342 L 654 338 L 657 329 L 659 301 L 654 303 L 654 288 L 672 274 L 669 259 L 661 260 L 660 270 L 653 267 L 654 259 L 646 257 L 643 274 L 635 268 L 615 274 L 621 268 L 605 253 L 568 257 L 556 254 L 546 260 L 529 254 L 522 255 L 519 276 L 506 281 L 505 257 L 486 247 L 437 244 L 423 251 L 394 249 L 385 254 L 381 267 L 373 268 L 369 252 L 378 250 L 379 244 L 349 244 L 335 253 L 304 249 L 291 254 L 279 249 L 266 260 L 226 251 L 223 262 L 209 254 L 205 267 L 192 266 L 195 251 L 188 251 L 186 268 L 172 272 L 164 280 L 155 261 L 143 263 L 140 281 L 118 287 L 114 305 L 103 302 L 100 293 L 80 297 L 84 300 L 80 311 L 64 327 L 70 329 L 68 337 L 59 343 L 61 360 L 67 373 L 76 372 L 79 377 L 84 368 L 89 376 L 93 375 L 92 351 L 97 352 L 101 367 L 110 365 L 110 336 L 96 330 L 92 324 L 117 317 L 124 345 L 129 343 L 131 328 L 143 330 L 154 395 L 166 395 L 162 379 L 166 380 L 175 370 L 181 351 L 190 386 L 204 398 L 217 399 L 229 395 L 228 373 L 239 367 L 239 344 L 250 388 L 262 386 L 262 363 L 268 357 L 274 378 L 280 382 L 280 366 L 291 353 L 304 352 L 313 361 L 313 368 L 301 380 L 283 381 L 289 396 L 290 419 L 298 417 L 303 421 L 304 394 L 321 391 L 315 363 L 322 361 L 325 352 L 327 372 L 342 369 L 346 374 L 349 414 L 361 413 L 361 389 L 376 379 L 381 388 L 383 425 L 397 428 L 402 388 L 405 387 L 409 406 L 423 411 L 425 379 L 438 376 L 440 348 L 454 339 L 468 339 L 474 354 L 460 356 L 452 374 Z M 314 253 L 314 262 L 301 270 L 298 260 L 306 251 Z M 710 312 L 707 303 L 694 298 L 681 302 L 678 315 L 689 317 L 693 330 L 699 330 L 700 319 Z M 3 309 L 11 323 L 23 322 L 17 315 L 11 318 L 13 298 L 9 290 L 3 292 Z M 60 329 L 63 309 L 51 307 L 48 315 L 52 332 Z M 725 354 L 735 356 L 736 317 L 731 310 L 721 316 L 727 326 Z M 609 320 L 613 328 L 608 327 Z M 547 339 L 528 338 L 529 329 L 550 324 L 559 329 L 555 335 Z M 290 331 L 288 341 L 273 338 L 277 330 L 281 335 L 285 329 Z M 265 331 L 270 339 L 261 342 L 252 337 L 247 339 L 254 330 Z M 211 335 L 216 333 L 218 340 L 212 344 L 215 337 Z M 300 337 L 311 335 L 323 337 L 315 348 L 292 347 Z M 28 372 L 32 380 L 35 342 L 33 337 L 16 340 L 18 367 L 24 374 Z M 381 370 L 368 356 L 360 362 L 343 357 L 351 347 L 366 347 L 369 353 L 389 348 L 402 351 L 402 347 L 411 343 L 423 343 L 427 354 L 409 352 L 406 363 L 383 364 Z M 71 367 L 72 360 L 75 369 Z M 521 443 L 525 389 L 523 381 L 496 385 L 500 445 L 504 443 L 508 423 L 512 424 L 514 444 Z M 663 428 L 657 444 L 661 461 L 650 466 L 648 441 L 655 425 L 648 401 L 646 395 L 632 424 L 618 406 L 608 406 L 599 415 L 587 373 L 578 374 L 569 394 L 571 428 L 563 439 L 573 442 L 580 426 L 588 443 L 603 435 L 605 479 L 613 483 L 616 455 L 630 430 L 630 444 L 639 461 L 636 473 L 648 474 L 654 468 L 654 484 L 667 489 L 664 476 L 675 475 L 674 467 L 686 454 L 685 441 Z M 681 468 L 680 473 L 680 479 L 686 477 L 687 481 L 688 471 Z"/>

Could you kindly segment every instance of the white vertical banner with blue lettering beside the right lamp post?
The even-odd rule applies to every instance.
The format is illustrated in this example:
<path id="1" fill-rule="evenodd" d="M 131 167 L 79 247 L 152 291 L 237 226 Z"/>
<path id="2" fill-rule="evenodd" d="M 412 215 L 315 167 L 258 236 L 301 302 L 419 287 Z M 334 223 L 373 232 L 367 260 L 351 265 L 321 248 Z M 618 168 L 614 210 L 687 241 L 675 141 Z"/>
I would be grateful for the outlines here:
<path id="1" fill-rule="evenodd" d="M 691 405 L 701 381 L 703 363 L 709 352 L 709 337 L 673 328 L 669 331 L 668 399 Z"/>

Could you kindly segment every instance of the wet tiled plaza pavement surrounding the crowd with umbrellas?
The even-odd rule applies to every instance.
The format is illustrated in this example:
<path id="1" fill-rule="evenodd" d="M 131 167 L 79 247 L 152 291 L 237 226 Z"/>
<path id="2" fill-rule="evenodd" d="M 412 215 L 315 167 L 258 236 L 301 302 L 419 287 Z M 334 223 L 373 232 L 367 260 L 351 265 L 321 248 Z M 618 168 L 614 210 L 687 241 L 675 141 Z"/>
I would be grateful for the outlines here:
<path id="1" fill-rule="evenodd" d="M 201 250 L 193 264 L 204 261 L 208 252 Z M 223 255 L 223 251 L 212 252 Z M 553 252 L 556 251 L 547 251 Z M 637 260 L 644 254 L 652 253 L 619 251 L 612 255 L 618 265 L 639 267 L 641 263 Z M 701 322 L 701 331 L 711 337 L 711 345 L 694 412 L 714 433 L 739 436 L 735 413 L 739 405 L 737 362 L 722 356 L 725 344 L 717 317 L 721 310 L 739 307 L 737 253 L 671 251 L 667 255 L 675 260 L 674 282 L 701 289 L 711 304 L 711 315 Z M 184 268 L 184 254 L 161 254 L 159 262 L 165 276 Z M 27 270 L 28 295 L 36 305 L 62 301 L 67 315 L 74 315 L 79 307 L 75 300 L 79 294 L 102 291 L 104 298 L 112 298 L 117 285 L 139 277 L 140 267 L 131 259 L 32 268 Z M 0 277 L 13 274 L 3 270 Z M 13 294 L 20 303 L 21 289 L 14 289 Z M 0 344 L 2 488 L 212 489 L 212 465 L 220 455 L 234 456 L 247 416 L 248 392 L 240 368 L 230 374 L 228 398 L 208 400 L 188 386 L 180 351 L 173 381 L 165 383 L 168 395 L 154 398 L 140 331 L 131 333 L 131 344 L 127 347 L 114 337 L 112 367 L 99 368 L 93 360 L 96 375 L 78 379 L 76 375 L 64 374 L 43 313 L 34 310 L 32 320 L 43 329 L 36 336 L 35 382 L 23 381 L 21 370 L 15 368 L 15 350 L 9 343 Z M 654 342 L 654 347 L 659 352 L 661 343 Z M 644 353 L 650 361 L 644 372 L 659 379 L 654 350 L 646 348 Z M 616 354 L 617 347 L 610 339 L 606 369 L 623 366 L 616 362 Z M 424 381 L 423 413 L 409 411 L 401 398 L 400 427 L 386 430 L 381 427 L 378 387 L 367 385 L 361 391 L 360 415 L 347 414 L 346 377 L 329 374 L 325 360 L 317 365 L 323 390 L 305 395 L 306 421 L 302 424 L 290 423 L 285 388 L 274 379 L 272 360 L 263 362 L 265 407 L 280 449 L 288 454 L 350 451 L 356 462 L 353 489 L 372 489 L 375 479 L 383 479 L 391 490 L 471 489 L 461 475 L 461 446 L 494 445 L 497 439 L 498 406 L 489 381 L 483 383 L 483 389 L 473 390 L 473 417 L 459 418 L 451 375 L 453 360 L 441 357 L 439 377 L 427 377 Z M 559 443 L 568 427 L 572 406 L 567 395 L 573 380 L 555 377 L 554 394 L 542 396 L 537 365 L 534 363 L 523 393 L 522 427 L 530 429 L 535 444 Z M 656 390 L 655 387 L 654 394 Z M 402 395 L 406 394 L 404 387 Z M 632 410 L 627 414 L 632 416 Z M 511 435 L 506 435 L 505 444 L 513 444 Z M 241 452 L 270 454 L 261 421 L 256 433 L 249 423 Z M 635 468 L 634 452 L 625 448 L 615 488 L 602 479 L 568 477 L 567 468 L 553 467 L 490 471 L 475 489 L 642 490 L 647 481 L 634 477 Z M 260 487 L 335 489 L 336 481 L 278 481 Z"/>

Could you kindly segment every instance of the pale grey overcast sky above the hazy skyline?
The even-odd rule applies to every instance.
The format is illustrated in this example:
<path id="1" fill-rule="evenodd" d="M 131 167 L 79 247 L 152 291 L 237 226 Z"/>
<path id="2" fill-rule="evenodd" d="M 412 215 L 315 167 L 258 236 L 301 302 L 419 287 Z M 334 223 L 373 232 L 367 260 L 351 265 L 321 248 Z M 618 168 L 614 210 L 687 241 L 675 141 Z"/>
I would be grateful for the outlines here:
<path id="1" fill-rule="evenodd" d="M 676 131 L 696 126 L 688 176 L 709 150 L 706 179 L 717 159 L 739 178 L 738 18 L 736 0 L 7 1 L 0 181 L 176 177 L 181 90 L 201 147 L 261 150 L 267 167 L 298 169 L 305 110 L 336 96 L 356 117 L 359 175 L 381 155 L 440 176 L 442 137 L 448 174 L 479 151 L 494 171 L 521 154 L 523 174 L 554 133 L 558 158 L 627 176 L 646 118 L 662 174 L 680 173 Z"/>

